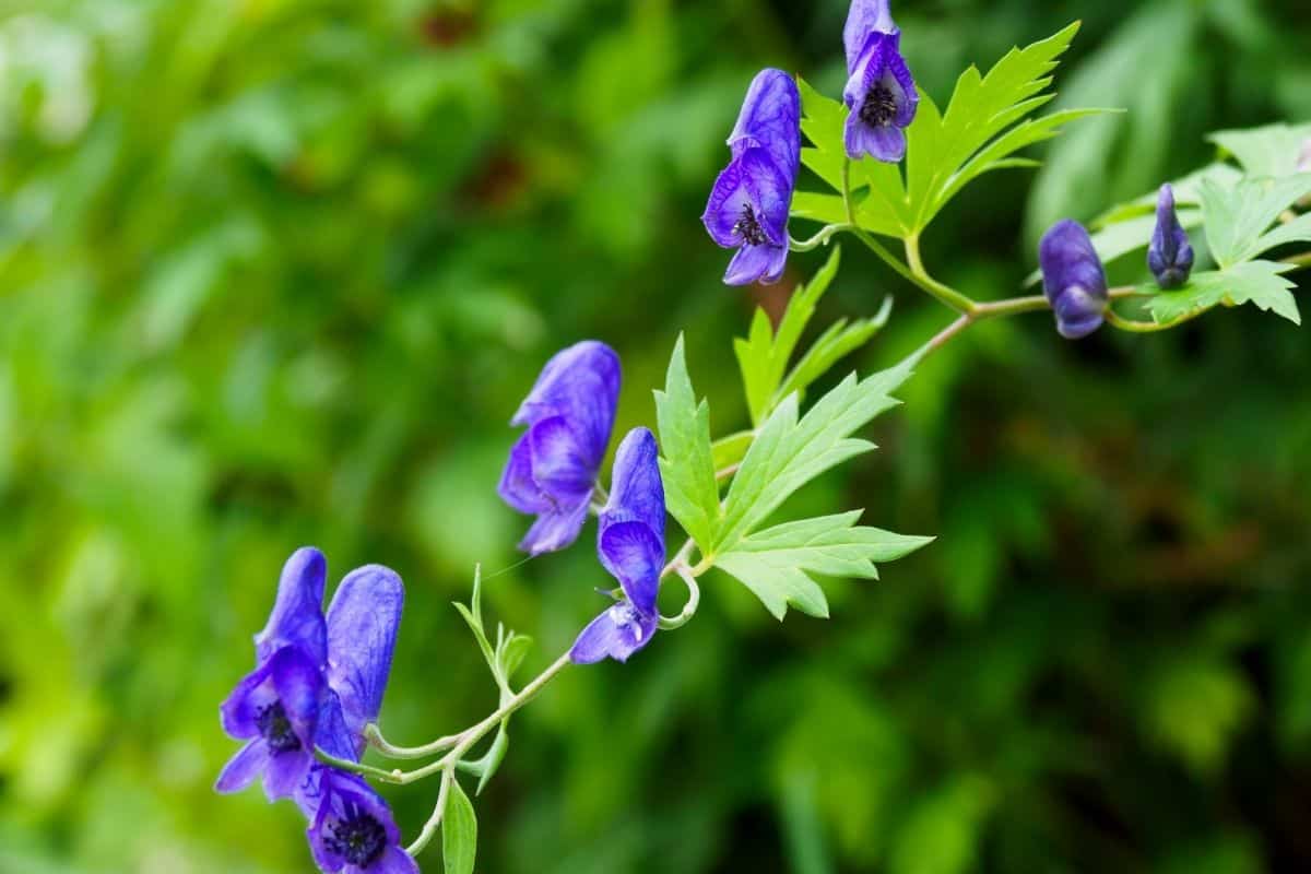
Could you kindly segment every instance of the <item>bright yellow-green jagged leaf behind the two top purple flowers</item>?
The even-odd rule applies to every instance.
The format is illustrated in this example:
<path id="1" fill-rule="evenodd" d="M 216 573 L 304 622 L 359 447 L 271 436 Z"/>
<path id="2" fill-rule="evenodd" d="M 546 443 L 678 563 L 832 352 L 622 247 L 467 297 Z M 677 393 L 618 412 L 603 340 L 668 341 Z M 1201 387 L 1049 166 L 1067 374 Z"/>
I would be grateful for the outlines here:
<path id="1" fill-rule="evenodd" d="M 918 235 L 979 176 L 1037 166 L 1037 161 L 1015 157 L 1016 152 L 1051 139 L 1075 119 L 1108 111 L 1068 109 L 1030 118 L 1055 96 L 1045 93 L 1051 84 L 1049 73 L 1078 30 L 1075 22 L 1027 48 L 1013 48 L 987 75 L 971 66 L 957 80 L 945 113 L 920 92 L 915 121 L 906 130 L 905 178 L 898 165 L 868 157 L 851 168 L 855 215 L 860 225 L 893 237 Z M 812 143 L 802 149 L 801 160 L 840 193 L 847 109 L 805 83 L 801 83 L 801 104 L 805 110 L 801 130 Z M 838 195 L 802 191 L 793 202 L 793 215 L 839 223 L 846 220 L 846 206 Z"/>

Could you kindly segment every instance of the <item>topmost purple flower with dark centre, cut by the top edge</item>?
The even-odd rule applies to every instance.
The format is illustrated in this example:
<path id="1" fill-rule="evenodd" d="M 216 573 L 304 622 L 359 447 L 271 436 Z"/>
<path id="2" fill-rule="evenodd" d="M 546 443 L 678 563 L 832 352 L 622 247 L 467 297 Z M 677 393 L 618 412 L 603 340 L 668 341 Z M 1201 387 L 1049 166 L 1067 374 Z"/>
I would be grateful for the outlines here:
<path id="1" fill-rule="evenodd" d="M 847 157 L 871 155 L 895 164 L 906 156 L 906 127 L 915 119 L 919 92 L 901 55 L 901 30 L 886 0 L 855 0 L 843 29 L 847 48 Z"/>

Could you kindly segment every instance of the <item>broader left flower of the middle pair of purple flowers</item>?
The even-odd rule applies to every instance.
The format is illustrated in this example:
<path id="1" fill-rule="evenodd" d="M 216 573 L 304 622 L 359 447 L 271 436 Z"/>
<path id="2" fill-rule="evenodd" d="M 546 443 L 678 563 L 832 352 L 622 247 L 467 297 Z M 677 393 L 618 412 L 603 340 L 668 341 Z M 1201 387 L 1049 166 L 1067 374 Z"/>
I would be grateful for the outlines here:
<path id="1" fill-rule="evenodd" d="M 510 419 L 528 430 L 510 451 L 498 491 L 538 520 L 519 549 L 539 556 L 578 537 L 619 402 L 615 350 L 583 341 L 555 355 Z"/>

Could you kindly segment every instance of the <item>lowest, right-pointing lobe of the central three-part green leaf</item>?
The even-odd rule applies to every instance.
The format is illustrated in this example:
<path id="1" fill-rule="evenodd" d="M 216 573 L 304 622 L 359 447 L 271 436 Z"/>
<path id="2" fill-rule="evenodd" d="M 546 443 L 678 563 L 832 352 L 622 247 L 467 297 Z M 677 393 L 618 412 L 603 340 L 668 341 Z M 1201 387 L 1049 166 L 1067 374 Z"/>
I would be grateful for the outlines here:
<path id="1" fill-rule="evenodd" d="M 720 553 L 716 567 L 750 588 L 776 618 L 788 605 L 827 617 L 829 603 L 813 574 L 877 579 L 874 562 L 901 558 L 932 537 L 907 537 L 856 525 L 861 511 L 789 522 L 742 539 Z"/>

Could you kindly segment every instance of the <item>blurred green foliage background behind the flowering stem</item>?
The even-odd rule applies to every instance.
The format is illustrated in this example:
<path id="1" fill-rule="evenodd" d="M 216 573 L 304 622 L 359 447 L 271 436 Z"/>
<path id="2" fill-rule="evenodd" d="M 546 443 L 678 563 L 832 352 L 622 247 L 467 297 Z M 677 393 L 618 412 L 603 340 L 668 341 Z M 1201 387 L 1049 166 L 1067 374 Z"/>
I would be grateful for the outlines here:
<path id="1" fill-rule="evenodd" d="M 506 421 L 597 337 L 619 428 L 652 423 L 686 330 L 716 432 L 743 425 L 729 337 L 823 253 L 725 288 L 697 216 L 756 68 L 840 90 L 846 4 L 0 10 L 0 871 L 309 871 L 291 805 L 210 789 L 282 561 L 405 578 L 396 739 L 486 713 L 448 601 L 518 561 Z M 977 297 L 1016 294 L 1054 218 L 1209 160 L 1206 131 L 1311 119 L 1303 0 L 894 12 L 940 100 L 1083 17 L 1062 100 L 1129 109 L 939 220 L 928 262 Z M 945 324 L 844 256 L 827 318 L 897 300 L 850 366 Z M 1041 314 L 974 329 L 876 421 L 880 452 L 798 498 L 940 540 L 829 586 L 826 622 L 711 577 L 686 629 L 566 672 L 477 802 L 479 870 L 1311 869 L 1308 380 L 1307 334 L 1255 308 L 1080 343 Z M 590 537 L 488 579 L 530 671 L 602 604 Z M 408 833 L 435 789 L 388 793 Z"/>

